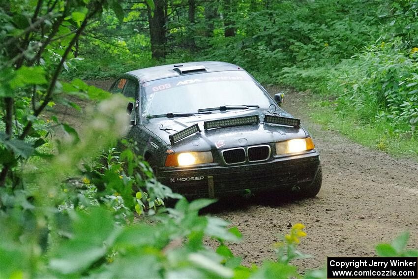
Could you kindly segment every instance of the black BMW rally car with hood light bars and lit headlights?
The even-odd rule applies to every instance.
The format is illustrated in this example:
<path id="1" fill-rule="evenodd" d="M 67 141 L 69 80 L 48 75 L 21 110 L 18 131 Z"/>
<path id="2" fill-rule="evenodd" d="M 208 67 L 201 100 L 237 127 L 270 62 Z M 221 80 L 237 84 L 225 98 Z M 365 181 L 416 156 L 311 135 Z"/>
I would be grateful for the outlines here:
<path id="1" fill-rule="evenodd" d="M 318 151 L 300 120 L 279 107 L 245 70 L 190 62 L 127 72 L 110 89 L 135 102 L 128 138 L 157 179 L 186 196 L 260 190 L 314 197 L 322 184 Z"/>

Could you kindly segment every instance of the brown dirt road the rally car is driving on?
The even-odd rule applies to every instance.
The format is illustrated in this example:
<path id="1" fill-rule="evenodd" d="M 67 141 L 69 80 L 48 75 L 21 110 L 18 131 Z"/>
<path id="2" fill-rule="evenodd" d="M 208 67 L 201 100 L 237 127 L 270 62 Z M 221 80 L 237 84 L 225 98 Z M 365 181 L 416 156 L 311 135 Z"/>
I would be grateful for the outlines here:
<path id="1" fill-rule="evenodd" d="M 104 89 L 109 81 L 93 83 Z M 271 92 L 276 92 L 272 90 Z M 301 270 L 323 266 L 327 256 L 372 256 L 378 243 L 399 233 L 411 234 L 409 248 L 418 248 L 418 164 L 367 149 L 309 119 L 303 93 L 286 95 L 284 108 L 302 119 L 321 152 L 324 182 L 315 199 L 277 202 L 235 200 L 210 213 L 231 221 L 243 241 L 231 244 L 244 264 L 274 259 L 273 243 L 288 226 L 303 223 L 307 237 L 300 250 L 310 259 L 296 262 Z"/>

